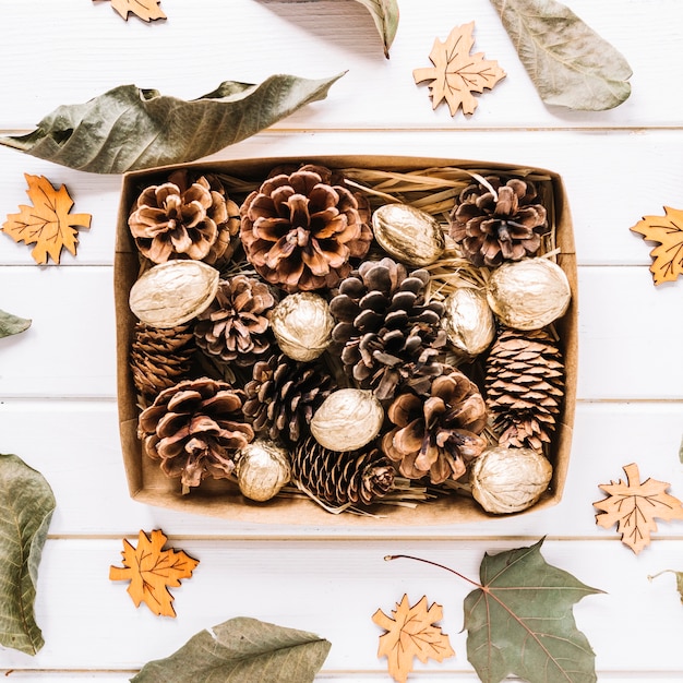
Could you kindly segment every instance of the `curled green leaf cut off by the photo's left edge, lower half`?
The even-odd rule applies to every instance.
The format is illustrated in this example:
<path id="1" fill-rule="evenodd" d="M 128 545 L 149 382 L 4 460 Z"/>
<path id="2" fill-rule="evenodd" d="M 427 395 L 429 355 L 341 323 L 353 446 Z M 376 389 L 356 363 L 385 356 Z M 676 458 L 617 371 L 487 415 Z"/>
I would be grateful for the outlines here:
<path id="1" fill-rule="evenodd" d="M 0 644 L 35 655 L 44 645 L 34 601 L 55 496 L 43 475 L 0 454 Z"/>

